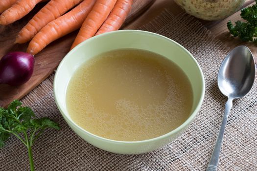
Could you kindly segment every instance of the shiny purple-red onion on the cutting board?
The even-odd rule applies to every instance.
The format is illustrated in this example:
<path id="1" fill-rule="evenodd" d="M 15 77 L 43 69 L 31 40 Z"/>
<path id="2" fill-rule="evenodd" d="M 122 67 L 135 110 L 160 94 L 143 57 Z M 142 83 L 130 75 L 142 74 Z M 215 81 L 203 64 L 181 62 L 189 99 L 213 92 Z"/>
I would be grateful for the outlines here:
<path id="1" fill-rule="evenodd" d="M 0 84 L 22 85 L 26 83 L 34 69 L 34 56 L 24 52 L 10 52 L 0 60 Z"/>

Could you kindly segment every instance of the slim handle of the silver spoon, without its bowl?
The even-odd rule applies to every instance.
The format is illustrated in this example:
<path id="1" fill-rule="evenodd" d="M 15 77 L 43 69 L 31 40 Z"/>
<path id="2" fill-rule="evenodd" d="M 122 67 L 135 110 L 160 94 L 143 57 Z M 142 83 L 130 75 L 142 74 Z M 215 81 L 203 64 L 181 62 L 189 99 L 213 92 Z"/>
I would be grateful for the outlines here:
<path id="1" fill-rule="evenodd" d="M 230 110 L 233 106 L 232 102 L 233 102 L 233 99 L 229 98 L 226 105 L 225 105 L 225 113 L 224 113 L 223 120 L 222 120 L 222 123 L 221 123 L 221 127 L 220 127 L 220 130 L 219 130 L 219 135 L 218 135 L 214 150 L 211 154 L 210 162 L 209 162 L 209 165 L 208 165 L 206 171 L 217 171 L 220 148 L 221 148 L 221 144 L 222 144 L 222 139 L 223 139 L 225 127 L 226 127 L 226 124 L 227 124 L 227 121 L 228 121 L 229 112 L 230 112 Z"/>

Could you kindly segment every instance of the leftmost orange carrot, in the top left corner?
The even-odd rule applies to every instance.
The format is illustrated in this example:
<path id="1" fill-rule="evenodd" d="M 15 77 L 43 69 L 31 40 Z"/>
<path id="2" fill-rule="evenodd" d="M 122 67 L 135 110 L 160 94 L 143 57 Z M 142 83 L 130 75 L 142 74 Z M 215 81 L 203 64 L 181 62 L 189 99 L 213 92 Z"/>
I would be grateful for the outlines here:
<path id="1" fill-rule="evenodd" d="M 0 15 L 0 24 L 7 25 L 23 18 L 42 0 L 17 0 Z"/>

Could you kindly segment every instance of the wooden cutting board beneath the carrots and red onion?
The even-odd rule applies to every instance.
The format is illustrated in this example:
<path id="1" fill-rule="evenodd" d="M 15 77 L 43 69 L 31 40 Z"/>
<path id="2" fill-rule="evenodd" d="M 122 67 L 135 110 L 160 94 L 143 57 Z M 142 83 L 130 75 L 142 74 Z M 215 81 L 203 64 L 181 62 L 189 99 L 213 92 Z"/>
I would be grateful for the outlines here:
<path id="1" fill-rule="evenodd" d="M 132 10 L 124 23 L 128 25 L 135 20 L 141 13 L 151 6 L 155 0 L 134 0 Z M 25 51 L 28 43 L 14 44 L 15 38 L 21 28 L 45 5 L 38 4 L 23 19 L 7 26 L 0 26 L 0 58 L 8 52 Z M 136 29 L 134 27 L 133 29 Z M 20 99 L 33 88 L 44 81 L 62 61 L 63 57 L 69 52 L 70 46 L 74 41 L 78 31 L 50 43 L 44 50 L 35 56 L 35 67 L 31 79 L 21 86 L 0 85 L 0 107 L 6 107 L 14 99 Z"/>

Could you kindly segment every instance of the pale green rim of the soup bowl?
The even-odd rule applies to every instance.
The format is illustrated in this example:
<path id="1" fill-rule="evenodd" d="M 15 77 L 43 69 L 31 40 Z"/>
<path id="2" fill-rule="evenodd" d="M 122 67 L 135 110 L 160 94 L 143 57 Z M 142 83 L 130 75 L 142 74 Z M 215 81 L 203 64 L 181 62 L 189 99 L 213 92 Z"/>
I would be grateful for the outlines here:
<path id="1" fill-rule="evenodd" d="M 161 38 L 161 39 L 165 39 L 167 41 L 170 41 L 172 43 L 174 43 L 175 45 L 179 46 L 182 50 L 184 50 L 193 60 L 194 64 L 197 66 L 197 68 L 199 69 L 200 71 L 200 77 L 201 77 L 201 83 L 202 83 L 202 89 L 201 89 L 201 96 L 200 96 L 200 100 L 197 104 L 197 106 L 195 107 L 195 109 L 191 112 L 191 115 L 187 118 L 187 120 L 185 122 L 183 122 L 183 124 L 181 124 L 179 127 L 171 130 L 170 132 L 168 133 L 165 133 L 164 135 L 161 135 L 161 136 L 158 136 L 158 137 L 155 137 L 155 138 L 151 138 L 151 139 L 147 139 L 147 140 L 140 140 L 140 141 L 118 141 L 118 140 L 112 140 L 112 139 L 108 139 L 108 138 L 104 138 L 104 137 L 101 137 L 101 136 L 98 136 L 98 135 L 95 135 L 87 130 L 85 130 L 84 128 L 81 128 L 80 126 L 78 126 L 74 121 L 72 121 L 72 119 L 69 119 L 66 115 L 68 115 L 68 113 L 64 112 L 62 106 L 59 105 L 59 99 L 56 98 L 57 97 L 57 77 L 59 75 L 59 72 L 60 72 L 60 69 L 62 68 L 62 65 L 66 62 L 66 59 L 69 58 L 70 54 L 72 54 L 74 51 L 76 51 L 78 48 L 80 48 L 81 46 L 83 46 L 84 44 L 90 42 L 90 41 L 93 41 L 94 39 L 98 39 L 99 37 L 102 37 L 102 36 L 106 36 L 106 35 L 110 35 L 110 34 L 117 34 L 117 33 L 131 33 L 131 34 L 134 34 L 134 33 L 140 33 L 140 34 L 144 34 L 144 35 L 151 35 L 151 36 L 155 36 L 157 38 Z M 61 61 L 61 63 L 59 64 L 56 72 L 55 72 L 55 75 L 54 75 L 54 81 L 53 81 L 53 91 L 54 91 L 54 100 L 55 100 L 55 103 L 58 107 L 58 109 L 60 110 L 62 116 L 64 117 L 65 120 L 69 120 L 70 123 L 75 126 L 76 128 L 78 128 L 79 130 L 81 130 L 82 132 L 86 133 L 86 134 L 89 134 L 91 136 L 93 136 L 94 138 L 97 138 L 97 139 L 100 139 L 102 141 L 108 141 L 110 143 L 118 143 L 118 144 L 141 144 L 141 143 L 149 143 L 149 142 L 154 142 L 154 141 L 157 141 L 157 140 L 160 140 L 160 139 L 164 139 L 164 138 L 167 138 L 167 137 L 170 137 L 171 135 L 173 134 L 176 134 L 178 132 L 180 132 L 181 130 L 183 130 L 183 128 L 186 128 L 188 124 L 190 124 L 193 119 L 195 118 L 195 116 L 197 115 L 198 111 L 200 110 L 201 106 L 202 106 L 202 103 L 203 103 L 203 100 L 204 100 L 204 95 L 205 95 L 205 79 L 204 79 L 204 74 L 202 72 L 202 69 L 200 67 L 200 65 L 197 63 L 196 59 L 192 56 L 192 54 L 185 48 L 183 47 L 181 44 L 165 37 L 165 36 L 162 36 L 160 34 L 157 34 L 157 33 L 153 33 L 153 32 L 148 32 L 148 31 L 142 31 L 142 30 L 117 30 L 117 31 L 112 31 L 112 32 L 108 32 L 108 33 L 103 33 L 103 34 L 100 34 L 100 35 L 97 35 L 97 36 L 94 36 L 80 44 L 78 44 L 76 47 L 74 47 L 72 50 L 70 50 L 70 52 L 63 58 L 63 60 Z M 67 121 L 66 121 L 67 122 Z M 67 123 L 69 125 L 69 123 Z M 72 128 L 73 129 L 73 128 Z M 74 131 L 74 130 L 73 130 Z"/>

